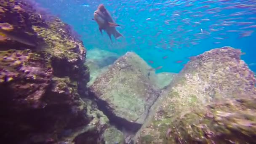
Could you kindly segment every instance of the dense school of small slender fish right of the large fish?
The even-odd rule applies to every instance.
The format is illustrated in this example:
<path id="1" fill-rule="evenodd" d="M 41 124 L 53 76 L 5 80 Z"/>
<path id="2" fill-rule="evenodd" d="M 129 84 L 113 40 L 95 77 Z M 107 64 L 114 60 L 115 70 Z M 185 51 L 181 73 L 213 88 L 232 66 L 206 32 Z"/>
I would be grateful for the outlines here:
<path id="1" fill-rule="evenodd" d="M 140 35 L 126 35 L 134 45 L 147 43 L 149 47 L 173 51 L 173 48 L 190 48 L 206 38 L 220 44 L 229 38 L 229 33 L 237 35 L 237 38 L 249 37 L 256 29 L 256 0 L 167 0 L 161 3 L 136 0 L 132 5 L 128 3 L 133 2 L 115 6 L 113 13 L 119 23 L 125 23 L 123 17 L 127 16 L 118 10 L 137 11 L 125 25 L 125 29 Z M 141 13 L 145 13 L 145 19 Z M 137 16 L 140 16 L 139 20 Z M 235 27 L 239 29 L 233 29 Z M 150 41 L 152 39 L 158 40 L 157 46 Z M 163 59 L 167 58 L 163 56 Z M 154 63 L 152 60 L 148 62 Z M 178 64 L 182 62 L 175 61 Z"/>

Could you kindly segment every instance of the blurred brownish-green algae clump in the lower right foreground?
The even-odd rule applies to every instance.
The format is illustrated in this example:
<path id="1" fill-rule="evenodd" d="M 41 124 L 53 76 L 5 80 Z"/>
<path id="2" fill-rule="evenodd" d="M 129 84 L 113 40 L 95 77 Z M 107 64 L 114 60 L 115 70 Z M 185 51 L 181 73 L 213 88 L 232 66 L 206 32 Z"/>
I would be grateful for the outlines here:
<path id="1" fill-rule="evenodd" d="M 251 101 L 249 99 L 243 99 Z M 253 99 L 253 103 L 255 103 Z M 229 107 L 233 104 L 234 107 Z M 255 109 L 249 112 L 243 108 L 245 103 L 229 101 L 220 104 L 211 104 L 204 110 L 187 113 L 172 123 L 173 129 L 169 141 L 181 141 L 182 143 L 216 142 L 225 143 L 233 141 L 243 143 L 253 141 L 251 136 L 256 133 L 253 125 L 256 123 Z M 227 107 L 228 106 L 228 107 Z M 241 107 L 242 106 L 242 107 Z M 248 117 L 250 117 L 248 120 Z M 180 133 L 180 134 L 178 134 Z M 240 137 L 244 137 L 240 139 Z M 245 139 L 245 137 L 247 137 Z"/>

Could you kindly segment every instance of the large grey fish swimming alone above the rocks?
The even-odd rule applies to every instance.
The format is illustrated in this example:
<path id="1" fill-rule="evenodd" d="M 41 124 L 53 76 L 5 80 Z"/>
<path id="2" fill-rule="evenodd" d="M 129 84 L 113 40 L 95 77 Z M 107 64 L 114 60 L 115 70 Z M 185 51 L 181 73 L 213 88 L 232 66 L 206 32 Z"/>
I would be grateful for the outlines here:
<path id="1" fill-rule="evenodd" d="M 116 39 L 118 37 L 123 37 L 123 35 L 120 34 L 120 32 L 118 32 L 117 29 L 115 29 L 115 27 L 119 25 L 113 21 L 109 11 L 107 11 L 103 4 L 100 4 L 98 9 L 94 11 L 94 20 L 99 25 L 99 31 L 101 32 L 101 35 L 102 30 L 106 31 L 109 35 L 111 42 L 111 35 L 114 35 Z"/>

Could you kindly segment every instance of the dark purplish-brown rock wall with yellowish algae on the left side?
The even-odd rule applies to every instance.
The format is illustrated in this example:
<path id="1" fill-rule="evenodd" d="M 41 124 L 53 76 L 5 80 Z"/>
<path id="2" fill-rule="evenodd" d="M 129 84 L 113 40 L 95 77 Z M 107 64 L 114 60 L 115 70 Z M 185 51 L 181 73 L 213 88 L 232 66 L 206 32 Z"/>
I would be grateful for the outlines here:
<path id="1" fill-rule="evenodd" d="M 1 141 L 100 142 L 108 119 L 80 99 L 89 80 L 83 43 L 60 19 L 43 20 L 28 1 L 0 0 L 1 29 L 16 34 L 0 41 Z"/>

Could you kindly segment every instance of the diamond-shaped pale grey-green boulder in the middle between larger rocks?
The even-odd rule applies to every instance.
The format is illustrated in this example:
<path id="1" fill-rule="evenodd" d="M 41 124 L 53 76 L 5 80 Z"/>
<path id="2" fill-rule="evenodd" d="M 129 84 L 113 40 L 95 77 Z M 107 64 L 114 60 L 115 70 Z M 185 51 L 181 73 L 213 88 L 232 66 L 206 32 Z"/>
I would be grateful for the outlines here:
<path id="1" fill-rule="evenodd" d="M 90 87 L 98 107 L 109 120 L 128 131 L 137 131 L 159 96 L 147 75 L 150 67 L 128 52 L 101 74 Z"/>

